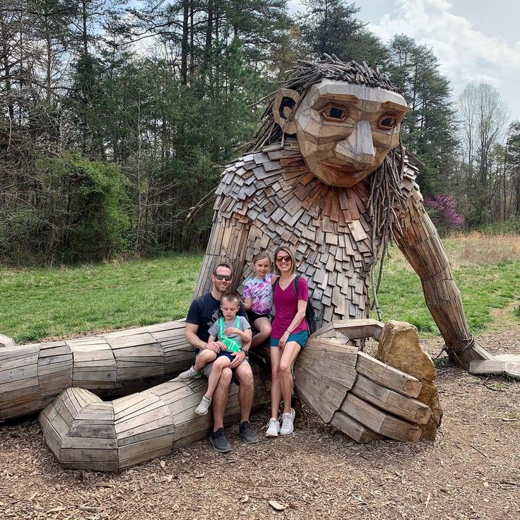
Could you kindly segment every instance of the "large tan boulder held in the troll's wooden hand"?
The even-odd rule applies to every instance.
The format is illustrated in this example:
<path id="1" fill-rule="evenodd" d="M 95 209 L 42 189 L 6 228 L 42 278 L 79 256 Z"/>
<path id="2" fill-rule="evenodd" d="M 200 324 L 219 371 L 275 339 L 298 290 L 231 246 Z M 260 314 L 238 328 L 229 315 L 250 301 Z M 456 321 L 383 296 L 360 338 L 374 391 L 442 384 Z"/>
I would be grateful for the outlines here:
<path id="1" fill-rule="evenodd" d="M 415 326 L 405 321 L 389 321 L 379 339 L 377 359 L 417 377 L 423 384 L 418 400 L 432 409 L 432 415 L 425 425 L 419 425 L 423 430 L 421 439 L 435 440 L 437 427 L 442 419 L 442 407 L 435 382 L 437 372 L 430 355 L 420 347 Z"/>

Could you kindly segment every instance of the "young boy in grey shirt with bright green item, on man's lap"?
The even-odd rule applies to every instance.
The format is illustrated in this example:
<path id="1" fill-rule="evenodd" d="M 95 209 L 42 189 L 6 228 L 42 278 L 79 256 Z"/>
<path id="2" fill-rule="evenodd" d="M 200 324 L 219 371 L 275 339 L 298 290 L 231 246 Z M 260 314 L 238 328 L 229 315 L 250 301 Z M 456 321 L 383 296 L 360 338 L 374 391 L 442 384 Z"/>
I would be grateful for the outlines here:
<path id="1" fill-rule="evenodd" d="M 209 329 L 208 344 L 213 343 L 216 338 L 216 342 L 220 347 L 220 352 L 215 353 L 210 348 L 201 350 L 201 353 L 197 355 L 195 359 L 195 365 L 189 370 L 179 374 L 181 381 L 187 381 L 188 379 L 195 379 L 201 377 L 201 370 L 208 363 L 213 363 L 211 374 L 208 378 L 208 390 L 206 395 L 203 396 L 201 403 L 195 408 L 195 413 L 199 415 L 206 415 L 208 409 L 211 406 L 211 400 L 213 398 L 213 392 L 217 387 L 220 374 L 225 367 L 229 367 L 232 360 L 235 359 L 235 354 L 242 350 L 244 343 L 251 342 L 251 326 L 242 316 L 237 316 L 238 309 L 240 308 L 240 296 L 237 293 L 225 293 L 220 300 L 220 310 L 222 311 L 223 317 L 219 318 Z"/>

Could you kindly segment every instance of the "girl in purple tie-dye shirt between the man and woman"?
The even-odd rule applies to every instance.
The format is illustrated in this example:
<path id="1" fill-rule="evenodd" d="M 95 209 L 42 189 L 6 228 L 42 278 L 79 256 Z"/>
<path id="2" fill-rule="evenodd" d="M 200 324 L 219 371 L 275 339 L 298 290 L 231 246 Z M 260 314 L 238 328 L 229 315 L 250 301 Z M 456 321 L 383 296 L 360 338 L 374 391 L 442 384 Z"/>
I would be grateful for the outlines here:
<path id="1" fill-rule="evenodd" d="M 273 307 L 273 280 L 274 273 L 271 269 L 269 255 L 257 253 L 253 256 L 253 268 L 255 277 L 249 278 L 244 285 L 244 309 L 246 309 L 249 323 L 259 331 L 254 336 L 251 348 L 260 345 L 271 336 L 271 321 L 269 319 Z"/>

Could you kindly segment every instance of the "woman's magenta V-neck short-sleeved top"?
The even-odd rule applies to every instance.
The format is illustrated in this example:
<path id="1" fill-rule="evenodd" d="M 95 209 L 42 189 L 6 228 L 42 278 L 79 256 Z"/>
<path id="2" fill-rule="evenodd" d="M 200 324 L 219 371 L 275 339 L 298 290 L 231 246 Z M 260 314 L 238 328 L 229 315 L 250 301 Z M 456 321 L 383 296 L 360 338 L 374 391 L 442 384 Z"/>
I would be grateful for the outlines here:
<path id="1" fill-rule="evenodd" d="M 273 331 L 271 338 L 280 339 L 290 326 L 296 313 L 298 312 L 298 300 L 309 300 L 309 286 L 307 280 L 301 278 L 298 280 L 298 294 L 295 294 L 295 282 L 291 280 L 285 290 L 280 287 L 280 282 L 276 283 L 274 290 L 274 308 L 276 314 L 273 321 Z M 308 331 L 307 320 L 303 317 L 300 324 L 291 332 Z"/>

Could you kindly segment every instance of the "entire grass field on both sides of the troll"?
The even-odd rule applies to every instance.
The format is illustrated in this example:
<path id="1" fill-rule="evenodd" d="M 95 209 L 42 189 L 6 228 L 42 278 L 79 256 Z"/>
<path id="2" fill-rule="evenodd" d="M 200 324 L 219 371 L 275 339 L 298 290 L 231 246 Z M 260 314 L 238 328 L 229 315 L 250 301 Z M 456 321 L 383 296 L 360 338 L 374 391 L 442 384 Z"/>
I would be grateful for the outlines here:
<path id="1" fill-rule="evenodd" d="M 520 237 L 469 235 L 444 244 L 472 331 L 492 327 L 495 309 L 519 323 Z M 391 255 L 379 292 L 384 321 L 409 321 L 422 336 L 435 335 L 419 278 L 398 249 Z M 201 254 L 178 254 L 69 268 L 0 268 L 0 333 L 21 343 L 182 318 L 201 260 Z"/>

